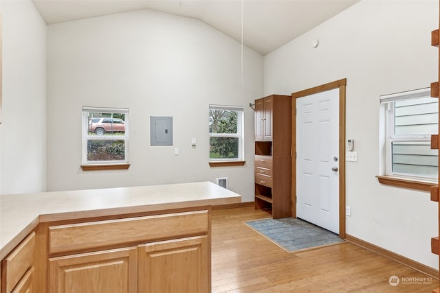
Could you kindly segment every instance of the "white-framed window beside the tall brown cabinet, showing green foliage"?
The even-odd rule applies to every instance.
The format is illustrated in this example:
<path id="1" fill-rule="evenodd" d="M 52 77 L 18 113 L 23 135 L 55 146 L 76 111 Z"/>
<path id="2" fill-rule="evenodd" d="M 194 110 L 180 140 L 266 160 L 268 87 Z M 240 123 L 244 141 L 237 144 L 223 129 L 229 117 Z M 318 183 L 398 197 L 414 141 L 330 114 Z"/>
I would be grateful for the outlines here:
<path id="1" fill-rule="evenodd" d="M 243 161 L 243 107 L 209 106 L 210 161 Z"/>

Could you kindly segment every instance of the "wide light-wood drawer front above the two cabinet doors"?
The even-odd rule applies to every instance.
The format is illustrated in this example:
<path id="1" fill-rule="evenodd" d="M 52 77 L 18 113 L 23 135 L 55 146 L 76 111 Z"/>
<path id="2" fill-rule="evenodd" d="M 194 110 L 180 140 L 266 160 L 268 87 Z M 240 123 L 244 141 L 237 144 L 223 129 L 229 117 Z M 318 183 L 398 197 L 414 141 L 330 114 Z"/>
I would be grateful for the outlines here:
<path id="1" fill-rule="evenodd" d="M 49 253 L 202 235 L 208 228 L 208 210 L 50 226 Z"/>

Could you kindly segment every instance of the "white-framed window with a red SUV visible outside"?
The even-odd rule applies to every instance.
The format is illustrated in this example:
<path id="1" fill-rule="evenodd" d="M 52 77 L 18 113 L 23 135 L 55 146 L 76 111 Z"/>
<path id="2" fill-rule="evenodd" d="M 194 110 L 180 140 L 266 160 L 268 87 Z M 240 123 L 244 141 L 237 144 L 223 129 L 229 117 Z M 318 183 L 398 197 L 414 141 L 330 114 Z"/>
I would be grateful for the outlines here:
<path id="1" fill-rule="evenodd" d="M 126 164 L 129 109 L 83 107 L 83 165 Z"/>

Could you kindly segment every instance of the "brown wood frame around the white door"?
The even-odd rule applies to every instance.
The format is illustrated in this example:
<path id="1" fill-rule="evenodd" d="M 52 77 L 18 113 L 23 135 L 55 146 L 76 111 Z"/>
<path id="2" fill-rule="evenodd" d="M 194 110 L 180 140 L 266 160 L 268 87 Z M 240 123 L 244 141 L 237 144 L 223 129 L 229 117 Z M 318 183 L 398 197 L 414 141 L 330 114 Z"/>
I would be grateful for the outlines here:
<path id="1" fill-rule="evenodd" d="M 339 89 L 339 237 L 345 238 L 345 87 L 347 78 L 292 93 L 292 154 L 296 154 L 296 99 Z M 292 156 L 292 217 L 296 218 L 296 155 Z"/>

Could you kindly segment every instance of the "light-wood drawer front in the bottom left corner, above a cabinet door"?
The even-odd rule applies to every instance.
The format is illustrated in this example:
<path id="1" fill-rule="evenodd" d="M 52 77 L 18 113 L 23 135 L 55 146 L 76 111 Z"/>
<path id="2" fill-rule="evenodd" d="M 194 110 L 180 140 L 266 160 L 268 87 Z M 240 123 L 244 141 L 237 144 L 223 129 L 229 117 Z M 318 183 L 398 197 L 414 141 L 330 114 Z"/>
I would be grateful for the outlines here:
<path id="1" fill-rule="evenodd" d="M 34 264 L 35 232 L 30 233 L 17 248 L 3 259 L 2 291 L 10 293 Z"/>

